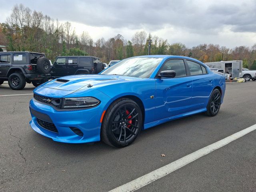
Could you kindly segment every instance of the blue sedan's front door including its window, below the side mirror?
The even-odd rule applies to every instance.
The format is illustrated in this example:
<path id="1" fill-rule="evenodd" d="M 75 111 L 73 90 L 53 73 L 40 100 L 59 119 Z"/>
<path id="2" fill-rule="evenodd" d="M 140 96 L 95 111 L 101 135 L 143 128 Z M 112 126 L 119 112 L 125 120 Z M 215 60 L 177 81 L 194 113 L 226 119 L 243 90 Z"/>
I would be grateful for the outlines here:
<path id="1" fill-rule="evenodd" d="M 184 60 L 167 60 L 160 69 L 165 70 L 174 70 L 176 76 L 156 79 L 155 120 L 191 111 L 192 78 L 187 76 Z"/>

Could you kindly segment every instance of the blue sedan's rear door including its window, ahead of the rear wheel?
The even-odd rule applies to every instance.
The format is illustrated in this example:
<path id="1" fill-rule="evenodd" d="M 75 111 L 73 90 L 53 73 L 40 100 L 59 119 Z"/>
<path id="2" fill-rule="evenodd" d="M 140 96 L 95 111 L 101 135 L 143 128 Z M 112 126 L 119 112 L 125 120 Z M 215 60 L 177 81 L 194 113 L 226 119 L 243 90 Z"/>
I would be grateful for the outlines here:
<path id="1" fill-rule="evenodd" d="M 214 88 L 214 76 L 202 64 L 192 60 L 186 60 L 190 77 L 193 80 L 192 110 L 199 110 L 207 106 L 209 96 Z"/>

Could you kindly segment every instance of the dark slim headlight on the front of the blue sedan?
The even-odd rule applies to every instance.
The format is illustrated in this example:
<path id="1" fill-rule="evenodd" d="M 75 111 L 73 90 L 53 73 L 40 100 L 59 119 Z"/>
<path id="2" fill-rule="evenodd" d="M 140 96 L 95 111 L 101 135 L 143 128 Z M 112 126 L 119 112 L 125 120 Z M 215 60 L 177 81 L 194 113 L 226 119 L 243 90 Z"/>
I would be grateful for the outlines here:
<path id="1" fill-rule="evenodd" d="M 63 98 L 61 108 L 86 108 L 99 103 L 100 101 L 94 97 Z"/>

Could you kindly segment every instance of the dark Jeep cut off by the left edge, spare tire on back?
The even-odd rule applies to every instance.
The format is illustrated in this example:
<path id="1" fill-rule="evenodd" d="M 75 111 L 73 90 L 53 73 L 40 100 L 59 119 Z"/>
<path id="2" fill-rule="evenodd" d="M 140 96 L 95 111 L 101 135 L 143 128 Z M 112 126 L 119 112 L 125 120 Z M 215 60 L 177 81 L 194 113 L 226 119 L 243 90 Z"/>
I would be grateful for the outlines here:
<path id="1" fill-rule="evenodd" d="M 21 90 L 26 82 L 38 86 L 50 78 L 50 61 L 34 52 L 0 52 L 0 85 L 8 80 L 10 88 Z"/>

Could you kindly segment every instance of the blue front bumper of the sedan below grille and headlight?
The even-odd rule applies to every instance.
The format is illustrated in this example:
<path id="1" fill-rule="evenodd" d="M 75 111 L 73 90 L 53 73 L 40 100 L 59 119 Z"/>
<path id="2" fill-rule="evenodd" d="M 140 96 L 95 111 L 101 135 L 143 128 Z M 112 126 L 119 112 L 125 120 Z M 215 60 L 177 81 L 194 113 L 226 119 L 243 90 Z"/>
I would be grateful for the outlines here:
<path id="1" fill-rule="evenodd" d="M 30 126 L 36 132 L 54 141 L 66 143 L 86 143 L 100 141 L 100 118 L 103 112 L 102 103 L 95 108 L 85 110 L 58 111 L 53 107 L 30 100 L 32 120 Z M 38 124 L 37 119 L 53 123 L 57 132 L 52 132 Z M 78 128 L 83 136 L 77 135 L 71 128 Z"/>

